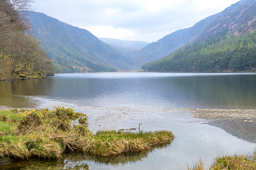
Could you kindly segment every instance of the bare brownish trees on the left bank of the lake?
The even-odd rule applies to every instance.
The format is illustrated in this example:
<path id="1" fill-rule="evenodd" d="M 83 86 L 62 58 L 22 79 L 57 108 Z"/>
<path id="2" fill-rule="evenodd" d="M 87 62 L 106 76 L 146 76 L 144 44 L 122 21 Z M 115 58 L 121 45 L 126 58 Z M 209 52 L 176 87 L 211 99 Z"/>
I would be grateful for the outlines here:
<path id="1" fill-rule="evenodd" d="M 32 0 L 0 0 L 0 79 L 53 75 L 53 64 L 32 37 L 27 17 Z"/>

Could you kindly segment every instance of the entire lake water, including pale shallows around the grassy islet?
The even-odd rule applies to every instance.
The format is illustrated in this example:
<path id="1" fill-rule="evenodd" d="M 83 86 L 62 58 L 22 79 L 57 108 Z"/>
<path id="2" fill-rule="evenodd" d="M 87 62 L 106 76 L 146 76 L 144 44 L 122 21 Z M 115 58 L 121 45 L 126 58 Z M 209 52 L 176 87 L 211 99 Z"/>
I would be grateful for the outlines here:
<path id="1" fill-rule="evenodd" d="M 170 130 L 173 143 L 150 152 L 97 158 L 29 160 L 3 168 L 182 169 L 199 158 L 248 154 L 256 147 L 255 123 L 191 117 L 180 108 L 256 109 L 256 74 L 124 72 L 57 74 L 48 79 L 0 82 L 0 105 L 14 108 L 71 107 L 87 113 L 89 128 Z M 247 132 L 247 133 L 245 133 Z"/>

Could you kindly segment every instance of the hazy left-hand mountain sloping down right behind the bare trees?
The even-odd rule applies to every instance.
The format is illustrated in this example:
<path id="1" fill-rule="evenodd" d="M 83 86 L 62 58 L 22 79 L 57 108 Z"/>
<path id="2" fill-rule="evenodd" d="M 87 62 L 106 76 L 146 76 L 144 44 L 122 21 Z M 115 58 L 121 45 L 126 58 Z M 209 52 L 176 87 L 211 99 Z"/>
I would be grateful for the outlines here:
<path id="1" fill-rule="evenodd" d="M 130 70 L 133 67 L 128 59 L 87 30 L 73 27 L 43 13 L 31 12 L 29 18 L 33 35 L 40 40 L 42 47 L 54 61 L 55 69 L 59 69 L 59 66 L 72 66 L 83 71 L 116 71 Z"/>

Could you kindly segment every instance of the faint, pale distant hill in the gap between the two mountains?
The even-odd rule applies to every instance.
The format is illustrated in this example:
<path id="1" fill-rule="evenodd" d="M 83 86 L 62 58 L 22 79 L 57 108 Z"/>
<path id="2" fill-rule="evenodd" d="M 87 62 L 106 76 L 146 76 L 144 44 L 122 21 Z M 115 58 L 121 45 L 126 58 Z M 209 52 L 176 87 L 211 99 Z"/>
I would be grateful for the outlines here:
<path id="1" fill-rule="evenodd" d="M 111 45 L 112 47 L 122 48 L 124 50 L 140 50 L 148 45 L 148 42 L 144 41 L 124 41 L 113 38 L 98 38 L 99 40 Z"/>

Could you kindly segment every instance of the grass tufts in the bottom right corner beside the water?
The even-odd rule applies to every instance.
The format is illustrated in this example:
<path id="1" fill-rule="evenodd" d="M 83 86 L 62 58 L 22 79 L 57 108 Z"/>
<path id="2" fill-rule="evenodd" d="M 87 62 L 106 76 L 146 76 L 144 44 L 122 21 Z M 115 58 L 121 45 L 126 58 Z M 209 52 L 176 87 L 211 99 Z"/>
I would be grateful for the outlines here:
<path id="1" fill-rule="evenodd" d="M 196 164 L 189 166 L 186 164 L 184 169 L 187 170 L 222 170 L 222 169 L 256 169 L 256 149 L 252 155 L 221 155 L 214 159 L 214 162 L 208 168 L 203 168 L 203 161 L 199 159 Z"/>

